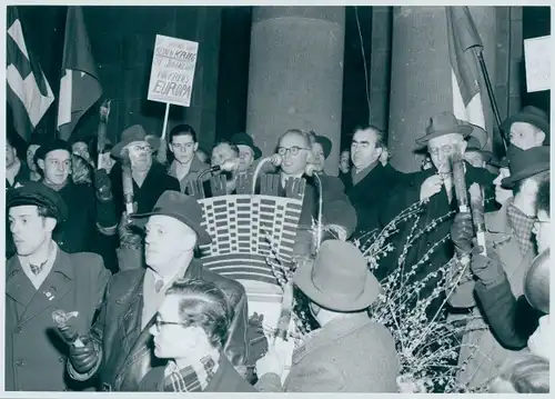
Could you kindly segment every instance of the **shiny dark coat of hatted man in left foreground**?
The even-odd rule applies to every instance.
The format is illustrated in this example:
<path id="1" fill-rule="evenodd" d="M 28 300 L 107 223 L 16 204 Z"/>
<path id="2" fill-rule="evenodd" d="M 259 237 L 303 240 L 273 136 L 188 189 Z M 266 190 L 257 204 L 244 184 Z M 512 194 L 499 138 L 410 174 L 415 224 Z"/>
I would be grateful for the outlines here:
<path id="1" fill-rule="evenodd" d="M 244 288 L 236 281 L 219 276 L 193 259 L 184 278 L 201 278 L 218 285 L 226 295 L 234 317 L 223 352 L 234 366 L 246 359 L 248 308 Z M 87 375 L 79 375 L 68 363 L 68 371 L 77 380 L 87 380 L 97 372 L 104 390 L 132 391 L 155 366 L 163 365 L 152 352 L 150 327 L 155 317 L 141 330 L 144 269 L 120 271 L 107 289 L 100 316 L 92 328 L 92 337 L 101 343 L 102 359 Z"/>

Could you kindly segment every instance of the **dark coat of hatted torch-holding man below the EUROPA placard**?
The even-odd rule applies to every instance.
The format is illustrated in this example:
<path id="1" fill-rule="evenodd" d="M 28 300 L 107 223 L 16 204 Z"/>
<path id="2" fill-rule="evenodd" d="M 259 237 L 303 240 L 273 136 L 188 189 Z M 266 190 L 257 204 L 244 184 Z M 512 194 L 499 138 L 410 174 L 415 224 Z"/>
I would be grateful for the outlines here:
<path id="1" fill-rule="evenodd" d="M 125 205 L 123 202 L 123 181 L 120 162 L 113 166 L 110 172 L 110 180 L 112 182 L 112 194 L 115 201 L 117 215 L 121 216 L 125 210 Z M 133 180 L 133 201 L 137 202 L 137 212 L 150 212 L 160 196 L 167 190 L 180 191 L 179 181 L 168 176 L 162 164 L 152 161 L 152 166 L 140 188 Z"/>

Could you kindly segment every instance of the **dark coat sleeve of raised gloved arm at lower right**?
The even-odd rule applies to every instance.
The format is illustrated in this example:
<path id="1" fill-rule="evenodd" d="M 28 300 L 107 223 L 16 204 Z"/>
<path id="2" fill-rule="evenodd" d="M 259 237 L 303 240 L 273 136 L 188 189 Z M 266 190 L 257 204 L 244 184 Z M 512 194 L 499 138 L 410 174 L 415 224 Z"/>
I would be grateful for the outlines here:
<path id="1" fill-rule="evenodd" d="M 524 296 L 515 298 L 507 279 L 492 286 L 477 281 L 474 289 L 497 341 L 512 350 L 525 348 L 544 315 L 534 309 Z"/>

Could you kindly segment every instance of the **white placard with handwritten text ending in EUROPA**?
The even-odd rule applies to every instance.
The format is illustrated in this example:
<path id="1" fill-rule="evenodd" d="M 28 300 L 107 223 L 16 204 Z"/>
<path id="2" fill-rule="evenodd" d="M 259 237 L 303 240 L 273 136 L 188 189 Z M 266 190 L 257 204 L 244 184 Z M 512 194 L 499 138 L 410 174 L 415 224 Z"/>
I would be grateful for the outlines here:
<path id="1" fill-rule="evenodd" d="M 189 107 L 198 50 L 195 41 L 157 34 L 148 99 Z"/>

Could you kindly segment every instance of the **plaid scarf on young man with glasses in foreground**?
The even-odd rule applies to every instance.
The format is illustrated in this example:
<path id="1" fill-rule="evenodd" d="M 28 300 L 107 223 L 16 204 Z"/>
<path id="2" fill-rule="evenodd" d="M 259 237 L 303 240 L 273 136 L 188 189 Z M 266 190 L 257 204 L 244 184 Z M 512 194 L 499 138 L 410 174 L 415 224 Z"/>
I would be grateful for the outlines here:
<path id="1" fill-rule="evenodd" d="M 220 353 L 209 353 L 180 369 L 171 360 L 165 368 L 164 392 L 202 392 L 218 371 Z"/>

